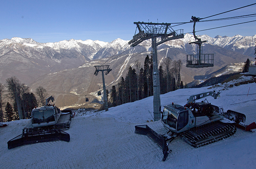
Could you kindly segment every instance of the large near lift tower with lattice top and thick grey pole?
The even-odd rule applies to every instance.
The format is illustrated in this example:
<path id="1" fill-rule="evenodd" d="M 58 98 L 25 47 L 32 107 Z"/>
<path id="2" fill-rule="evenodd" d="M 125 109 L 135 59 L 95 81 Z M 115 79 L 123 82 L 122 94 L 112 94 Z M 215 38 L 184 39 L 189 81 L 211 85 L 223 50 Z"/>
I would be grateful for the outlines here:
<path id="1" fill-rule="evenodd" d="M 129 41 L 131 47 L 135 47 L 142 41 L 150 39 L 152 40 L 152 59 L 153 59 L 153 107 L 154 107 L 154 121 L 161 119 L 160 113 L 160 81 L 158 72 L 158 58 L 157 58 L 157 46 L 174 39 L 184 38 L 183 29 L 174 31 L 170 27 L 170 23 L 144 23 L 134 22 L 137 25 L 139 33 L 133 36 L 133 39 Z M 136 30 L 137 30 L 136 28 Z M 157 42 L 158 40 L 158 42 Z"/>

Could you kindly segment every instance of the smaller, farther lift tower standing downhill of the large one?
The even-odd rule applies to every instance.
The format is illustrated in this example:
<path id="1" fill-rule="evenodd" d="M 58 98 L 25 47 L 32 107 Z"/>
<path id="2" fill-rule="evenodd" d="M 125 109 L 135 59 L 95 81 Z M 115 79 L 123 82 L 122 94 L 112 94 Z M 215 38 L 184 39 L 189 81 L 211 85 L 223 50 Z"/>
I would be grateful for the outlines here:
<path id="1" fill-rule="evenodd" d="M 104 101 L 105 101 L 105 111 L 108 111 L 108 99 L 106 97 L 106 86 L 105 86 L 105 79 L 104 73 L 107 75 L 112 69 L 109 68 L 109 65 L 105 66 L 94 66 L 96 68 L 94 74 L 98 75 L 99 71 L 102 74 L 102 83 L 103 83 L 103 91 L 104 91 Z"/>

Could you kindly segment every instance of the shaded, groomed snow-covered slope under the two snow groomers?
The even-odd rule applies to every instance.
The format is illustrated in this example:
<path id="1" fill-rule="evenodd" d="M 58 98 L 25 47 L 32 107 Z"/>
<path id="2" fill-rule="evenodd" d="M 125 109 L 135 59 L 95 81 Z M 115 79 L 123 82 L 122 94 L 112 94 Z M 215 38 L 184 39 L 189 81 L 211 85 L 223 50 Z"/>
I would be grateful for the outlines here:
<path id="1" fill-rule="evenodd" d="M 244 77 L 248 78 L 248 77 Z M 220 98 L 207 101 L 246 115 L 246 124 L 256 121 L 256 84 L 229 87 L 178 89 L 161 95 L 161 105 L 185 105 L 190 95 L 220 91 Z M 205 98 L 204 98 L 205 99 Z M 108 112 L 78 113 L 72 119 L 70 142 L 56 141 L 7 148 L 7 142 L 22 133 L 30 120 L 8 122 L 0 128 L 0 168 L 5 169 L 249 169 L 256 166 L 256 133 L 237 132 L 222 141 L 193 148 L 181 138 L 170 143 L 165 162 L 163 153 L 150 138 L 135 134 L 135 125 L 147 124 L 157 132 L 166 129 L 153 120 L 153 97 L 109 108 Z M 79 111 L 80 112 L 80 111 Z M 253 130 L 256 131 L 256 130 Z"/>

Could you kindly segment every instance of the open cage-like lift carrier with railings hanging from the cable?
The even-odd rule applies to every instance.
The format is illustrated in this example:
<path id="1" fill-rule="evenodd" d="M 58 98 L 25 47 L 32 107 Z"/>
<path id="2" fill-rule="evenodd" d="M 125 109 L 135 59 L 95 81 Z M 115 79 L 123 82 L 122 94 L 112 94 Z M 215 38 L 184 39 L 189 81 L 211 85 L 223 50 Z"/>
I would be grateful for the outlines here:
<path id="1" fill-rule="evenodd" d="M 186 67 L 190 68 L 203 68 L 203 67 L 213 67 L 213 60 L 214 60 L 214 54 L 203 54 L 203 43 L 205 41 L 201 41 L 201 38 L 197 38 L 196 32 L 195 32 L 195 26 L 196 22 L 200 20 L 200 18 L 191 17 L 191 22 L 194 22 L 193 26 L 193 34 L 194 38 L 196 39 L 195 42 L 190 42 L 189 44 L 197 44 L 197 54 L 187 55 L 187 64 Z"/>

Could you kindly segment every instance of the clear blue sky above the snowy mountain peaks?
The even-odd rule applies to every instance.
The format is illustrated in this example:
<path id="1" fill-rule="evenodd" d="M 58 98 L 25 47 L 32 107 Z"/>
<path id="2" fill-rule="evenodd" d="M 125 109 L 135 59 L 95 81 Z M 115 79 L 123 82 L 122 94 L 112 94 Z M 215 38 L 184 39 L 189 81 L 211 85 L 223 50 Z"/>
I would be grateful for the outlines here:
<path id="1" fill-rule="evenodd" d="M 255 0 L 3 0 L 0 39 L 21 37 L 46 43 L 62 40 L 131 40 L 134 22 L 188 22 L 256 3 Z M 205 20 L 255 14 L 256 5 Z M 196 31 L 256 20 L 256 17 L 196 24 Z M 256 22 L 197 32 L 210 37 L 253 36 Z M 193 31 L 193 23 L 174 27 Z"/>

